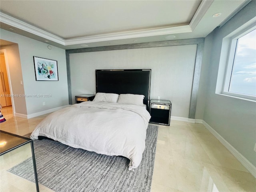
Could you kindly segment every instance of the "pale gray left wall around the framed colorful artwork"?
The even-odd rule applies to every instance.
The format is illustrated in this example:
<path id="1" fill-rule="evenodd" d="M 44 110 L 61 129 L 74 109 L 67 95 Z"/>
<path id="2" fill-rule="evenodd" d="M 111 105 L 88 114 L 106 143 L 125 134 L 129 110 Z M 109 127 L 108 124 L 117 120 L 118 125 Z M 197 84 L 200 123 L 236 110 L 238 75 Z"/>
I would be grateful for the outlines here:
<path id="1" fill-rule="evenodd" d="M 49 50 L 47 48 L 48 44 L 46 43 L 7 30 L 0 29 L 0 33 L 1 39 L 18 44 L 24 94 L 51 94 L 51 97 L 48 98 L 26 97 L 26 104 L 24 104 L 24 99 L 21 100 L 21 102 L 23 102 L 22 106 L 26 106 L 26 109 L 22 109 L 22 112 L 26 112 L 26 114 L 30 115 L 36 112 L 68 105 L 65 50 L 54 46 L 52 46 L 52 50 Z M 15 57 L 15 55 L 13 56 Z M 36 81 L 33 56 L 57 60 L 59 81 Z M 18 83 L 20 80 L 22 79 L 16 79 Z M 21 85 L 16 84 L 15 86 Z M 43 102 L 46 103 L 45 106 L 42 105 Z"/>

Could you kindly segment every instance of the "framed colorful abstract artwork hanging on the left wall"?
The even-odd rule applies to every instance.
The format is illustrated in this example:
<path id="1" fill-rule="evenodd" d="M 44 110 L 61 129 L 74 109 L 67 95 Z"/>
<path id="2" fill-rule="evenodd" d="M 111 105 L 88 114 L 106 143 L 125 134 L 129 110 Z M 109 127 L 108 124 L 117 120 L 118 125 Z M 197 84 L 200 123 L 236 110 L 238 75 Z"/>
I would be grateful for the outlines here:
<path id="1" fill-rule="evenodd" d="M 36 81 L 58 81 L 56 60 L 33 56 Z"/>

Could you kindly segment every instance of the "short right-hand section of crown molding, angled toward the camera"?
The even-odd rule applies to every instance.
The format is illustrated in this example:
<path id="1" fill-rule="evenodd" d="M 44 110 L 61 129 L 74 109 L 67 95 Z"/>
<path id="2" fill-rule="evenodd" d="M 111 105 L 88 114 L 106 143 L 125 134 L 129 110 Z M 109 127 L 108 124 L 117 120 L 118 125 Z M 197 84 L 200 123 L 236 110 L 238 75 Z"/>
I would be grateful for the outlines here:
<path id="1" fill-rule="evenodd" d="M 203 18 L 204 14 L 210 8 L 210 6 L 212 5 L 213 2 L 214 2 L 214 0 L 202 0 L 200 6 L 196 10 L 196 13 L 194 14 L 194 16 L 189 24 L 192 31 L 196 28 L 197 24 Z"/>

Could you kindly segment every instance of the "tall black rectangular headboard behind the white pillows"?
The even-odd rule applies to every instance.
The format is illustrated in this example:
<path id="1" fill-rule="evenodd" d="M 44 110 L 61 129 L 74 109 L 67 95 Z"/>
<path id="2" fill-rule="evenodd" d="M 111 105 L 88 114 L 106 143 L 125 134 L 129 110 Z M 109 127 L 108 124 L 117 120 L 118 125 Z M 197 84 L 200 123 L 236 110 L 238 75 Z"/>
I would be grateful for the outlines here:
<path id="1" fill-rule="evenodd" d="M 96 92 L 144 95 L 149 107 L 151 69 L 96 70 Z"/>

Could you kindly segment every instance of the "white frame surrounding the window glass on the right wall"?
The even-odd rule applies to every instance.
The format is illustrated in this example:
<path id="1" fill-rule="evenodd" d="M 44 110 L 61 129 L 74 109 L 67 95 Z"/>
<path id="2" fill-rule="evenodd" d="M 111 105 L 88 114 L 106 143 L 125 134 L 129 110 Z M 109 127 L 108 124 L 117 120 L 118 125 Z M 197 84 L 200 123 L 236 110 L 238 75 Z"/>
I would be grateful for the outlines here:
<path id="1" fill-rule="evenodd" d="M 221 49 L 222 52 L 220 55 L 220 65 L 216 84 L 216 94 L 256 102 L 256 96 L 228 91 L 235 59 L 237 40 L 254 29 L 256 29 L 256 22 L 248 22 L 244 26 L 241 26 L 240 28 L 223 38 Z"/>

